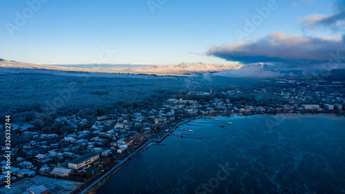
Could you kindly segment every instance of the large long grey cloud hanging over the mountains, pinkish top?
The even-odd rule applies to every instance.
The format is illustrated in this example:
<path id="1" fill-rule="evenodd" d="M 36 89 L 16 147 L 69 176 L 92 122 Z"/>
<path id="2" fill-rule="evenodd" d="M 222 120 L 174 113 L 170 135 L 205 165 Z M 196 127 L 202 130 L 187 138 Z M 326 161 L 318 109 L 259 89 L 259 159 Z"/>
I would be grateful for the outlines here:
<path id="1" fill-rule="evenodd" d="M 273 32 L 257 41 L 214 46 L 207 55 L 243 64 L 275 62 L 291 67 L 326 63 L 331 60 L 332 53 L 338 52 L 345 53 L 344 37 L 287 36 L 283 32 Z M 345 57 L 339 57 L 338 62 L 344 61 Z"/>

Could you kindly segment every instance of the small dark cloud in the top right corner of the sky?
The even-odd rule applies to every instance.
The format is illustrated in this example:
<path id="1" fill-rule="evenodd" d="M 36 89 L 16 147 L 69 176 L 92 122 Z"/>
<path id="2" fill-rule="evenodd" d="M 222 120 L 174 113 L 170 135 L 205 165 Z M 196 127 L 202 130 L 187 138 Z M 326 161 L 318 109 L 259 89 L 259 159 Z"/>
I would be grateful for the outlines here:
<path id="1" fill-rule="evenodd" d="M 333 30 L 345 29 L 345 1 L 335 3 L 335 14 L 313 14 L 304 18 L 304 28 L 326 27 Z"/>

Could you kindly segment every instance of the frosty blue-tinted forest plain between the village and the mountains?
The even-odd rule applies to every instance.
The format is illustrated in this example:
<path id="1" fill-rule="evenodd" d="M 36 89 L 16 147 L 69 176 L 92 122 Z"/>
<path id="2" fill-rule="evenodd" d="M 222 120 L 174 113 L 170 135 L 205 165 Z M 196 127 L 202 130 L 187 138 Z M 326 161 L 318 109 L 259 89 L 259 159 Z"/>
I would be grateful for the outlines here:
<path id="1" fill-rule="evenodd" d="M 193 98 L 201 103 L 206 96 L 188 96 L 188 90 L 250 90 L 266 86 L 257 79 L 212 77 L 78 77 L 41 73 L 0 75 L 0 117 L 12 122 L 51 126 L 56 117 L 77 115 L 89 121 L 98 115 L 135 113 L 159 107 L 170 97 Z M 222 97 L 221 94 L 218 94 Z M 237 104 L 253 97 L 234 97 Z M 3 123 L 3 120 L 0 121 Z"/>

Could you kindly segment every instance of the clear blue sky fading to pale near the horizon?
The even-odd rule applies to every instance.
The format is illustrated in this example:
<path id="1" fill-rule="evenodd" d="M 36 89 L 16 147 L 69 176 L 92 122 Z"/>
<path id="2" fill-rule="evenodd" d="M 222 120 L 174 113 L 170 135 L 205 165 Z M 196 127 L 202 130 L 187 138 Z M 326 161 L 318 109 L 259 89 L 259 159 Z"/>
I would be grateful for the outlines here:
<path id="1" fill-rule="evenodd" d="M 272 0 L 152 0 L 161 2 L 152 14 L 146 0 L 3 0 L 0 58 L 40 64 L 90 64 L 99 58 L 103 46 L 116 50 L 106 59 L 107 64 L 230 64 L 228 58 L 206 52 L 214 46 L 238 42 L 235 30 L 244 30 L 244 19 L 252 19 L 257 14 L 255 8 L 267 6 L 268 1 Z M 36 2 L 36 6 L 40 2 L 40 8 L 33 10 L 28 2 Z M 277 0 L 277 8 L 270 10 L 268 17 L 242 41 L 255 41 L 277 31 L 286 35 L 341 37 L 334 30 L 302 28 L 308 15 L 333 14 L 334 3 Z M 15 22 L 16 12 L 27 14 L 22 26 Z"/>

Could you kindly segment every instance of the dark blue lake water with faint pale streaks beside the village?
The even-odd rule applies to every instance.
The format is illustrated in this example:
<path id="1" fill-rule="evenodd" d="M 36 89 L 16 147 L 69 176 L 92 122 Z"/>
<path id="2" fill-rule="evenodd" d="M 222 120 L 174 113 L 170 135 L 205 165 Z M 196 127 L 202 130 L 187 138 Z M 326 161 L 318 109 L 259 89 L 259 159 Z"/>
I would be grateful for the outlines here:
<path id="1" fill-rule="evenodd" d="M 150 146 L 97 193 L 345 193 L 345 117 L 217 119 L 179 126 L 194 132 L 175 133 L 203 139 L 167 137 L 166 146 Z"/>

